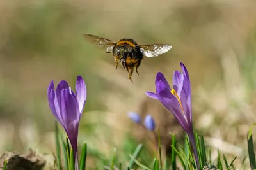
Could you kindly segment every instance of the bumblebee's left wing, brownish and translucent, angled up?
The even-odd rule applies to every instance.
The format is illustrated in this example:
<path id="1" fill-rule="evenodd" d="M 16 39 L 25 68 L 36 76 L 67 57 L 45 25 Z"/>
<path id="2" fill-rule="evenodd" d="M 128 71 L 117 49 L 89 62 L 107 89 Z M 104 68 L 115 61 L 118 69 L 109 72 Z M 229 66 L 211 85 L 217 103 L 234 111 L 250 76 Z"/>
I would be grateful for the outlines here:
<path id="1" fill-rule="evenodd" d="M 99 36 L 94 36 L 91 34 L 83 34 L 83 37 L 84 37 L 84 39 L 89 41 L 92 45 L 97 45 L 102 48 L 105 48 L 106 52 L 112 52 L 113 47 L 116 44 L 114 41 L 111 41 L 109 39 L 102 38 Z"/>

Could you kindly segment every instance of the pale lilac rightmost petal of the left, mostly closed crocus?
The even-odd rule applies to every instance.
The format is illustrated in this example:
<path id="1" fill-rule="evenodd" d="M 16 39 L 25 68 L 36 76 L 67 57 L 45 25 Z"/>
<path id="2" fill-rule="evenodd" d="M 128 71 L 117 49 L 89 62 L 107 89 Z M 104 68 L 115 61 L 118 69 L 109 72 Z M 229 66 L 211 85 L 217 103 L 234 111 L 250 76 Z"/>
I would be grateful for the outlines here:
<path id="1" fill-rule="evenodd" d="M 84 104 L 86 101 L 86 85 L 84 80 L 81 76 L 77 76 L 76 80 L 76 94 L 77 94 L 77 101 L 79 104 L 79 111 L 80 113 L 83 112 Z"/>

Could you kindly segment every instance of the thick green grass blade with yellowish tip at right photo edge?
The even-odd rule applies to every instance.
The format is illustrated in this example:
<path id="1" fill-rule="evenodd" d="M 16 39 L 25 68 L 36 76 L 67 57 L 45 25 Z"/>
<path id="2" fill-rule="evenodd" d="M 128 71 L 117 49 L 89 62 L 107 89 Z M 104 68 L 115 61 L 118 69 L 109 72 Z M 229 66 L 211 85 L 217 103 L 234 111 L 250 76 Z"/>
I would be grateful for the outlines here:
<path id="1" fill-rule="evenodd" d="M 256 124 L 251 125 L 247 134 L 248 155 L 249 155 L 251 169 L 256 169 L 255 153 L 254 153 L 253 138 L 252 138 L 252 130 L 254 125 Z"/>

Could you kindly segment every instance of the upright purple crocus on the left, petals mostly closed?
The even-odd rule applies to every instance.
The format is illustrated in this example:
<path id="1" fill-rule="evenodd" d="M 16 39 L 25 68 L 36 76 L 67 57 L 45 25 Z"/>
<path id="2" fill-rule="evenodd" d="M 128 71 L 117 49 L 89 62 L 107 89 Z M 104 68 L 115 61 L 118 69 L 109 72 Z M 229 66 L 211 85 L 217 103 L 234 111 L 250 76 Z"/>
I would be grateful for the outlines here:
<path id="1" fill-rule="evenodd" d="M 77 156 L 77 136 L 81 115 L 86 101 L 86 85 L 81 76 L 77 76 L 74 93 L 67 81 L 62 80 L 54 89 L 53 80 L 48 87 L 48 102 L 53 115 L 65 129 L 68 139 Z M 78 160 L 76 160 L 78 162 Z"/>

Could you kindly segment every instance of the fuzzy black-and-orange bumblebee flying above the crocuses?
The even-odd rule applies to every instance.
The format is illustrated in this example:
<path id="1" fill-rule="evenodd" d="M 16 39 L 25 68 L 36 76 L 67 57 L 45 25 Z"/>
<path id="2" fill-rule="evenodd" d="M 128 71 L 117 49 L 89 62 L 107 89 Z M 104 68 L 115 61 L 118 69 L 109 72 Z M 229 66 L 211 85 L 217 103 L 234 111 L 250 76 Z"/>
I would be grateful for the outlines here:
<path id="1" fill-rule="evenodd" d="M 128 38 L 114 42 L 91 34 L 83 34 L 83 37 L 93 45 L 105 48 L 106 53 L 113 53 L 116 62 L 116 69 L 118 66 L 118 60 L 120 60 L 124 69 L 127 69 L 129 73 L 129 80 L 131 81 L 134 68 L 136 68 L 136 72 L 138 73 L 138 67 L 140 67 L 141 60 L 144 56 L 156 57 L 162 53 L 168 52 L 172 48 L 171 45 L 167 44 L 139 45 L 133 39 Z"/>

